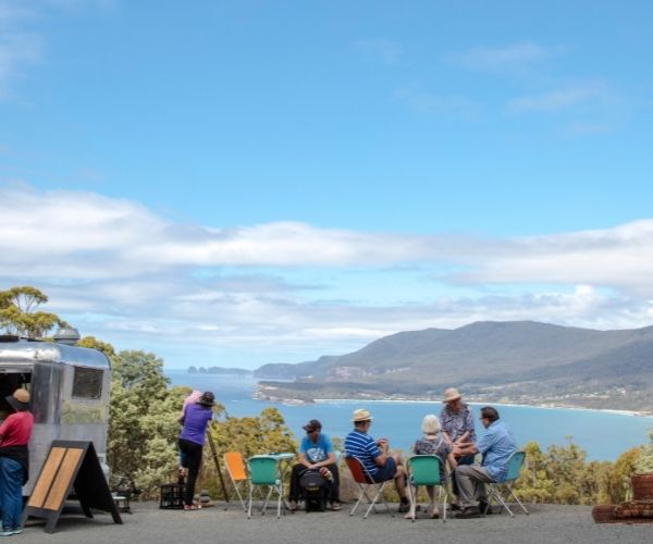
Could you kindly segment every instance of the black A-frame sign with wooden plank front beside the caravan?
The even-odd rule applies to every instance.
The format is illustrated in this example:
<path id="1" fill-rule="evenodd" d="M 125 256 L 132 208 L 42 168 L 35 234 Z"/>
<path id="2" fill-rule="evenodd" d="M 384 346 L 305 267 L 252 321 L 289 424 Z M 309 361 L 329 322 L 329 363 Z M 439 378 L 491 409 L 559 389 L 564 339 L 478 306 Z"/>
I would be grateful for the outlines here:
<path id="1" fill-rule="evenodd" d="M 46 519 L 46 532 L 53 533 L 73 490 L 87 518 L 93 518 L 95 508 L 122 523 L 93 442 L 53 441 L 23 511 L 23 524 L 29 517 Z"/>

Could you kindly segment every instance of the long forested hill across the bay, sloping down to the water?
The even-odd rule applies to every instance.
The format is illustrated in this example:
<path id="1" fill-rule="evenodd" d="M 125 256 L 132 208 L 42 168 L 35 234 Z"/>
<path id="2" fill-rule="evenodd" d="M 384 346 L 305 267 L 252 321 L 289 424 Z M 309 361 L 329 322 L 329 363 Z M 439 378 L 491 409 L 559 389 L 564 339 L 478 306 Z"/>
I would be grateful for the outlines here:
<path id="1" fill-rule="evenodd" d="M 440 398 L 653 409 L 653 326 L 595 331 L 531 321 L 477 322 L 385 336 L 358 351 L 259 368 L 287 398 Z M 263 387 L 264 393 L 264 387 Z"/>

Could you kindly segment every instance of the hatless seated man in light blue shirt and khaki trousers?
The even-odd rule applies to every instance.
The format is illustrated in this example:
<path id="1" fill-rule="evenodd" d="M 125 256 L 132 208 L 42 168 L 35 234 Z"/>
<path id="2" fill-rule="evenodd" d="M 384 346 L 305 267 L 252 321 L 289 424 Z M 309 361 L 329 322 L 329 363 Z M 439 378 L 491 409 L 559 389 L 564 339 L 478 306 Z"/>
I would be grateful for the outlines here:
<path id="1" fill-rule="evenodd" d="M 481 465 L 459 465 L 454 472 L 461 509 L 456 518 L 478 518 L 485 509 L 490 514 L 485 483 L 505 481 L 508 459 L 517 450 L 513 431 L 498 421 L 495 408 L 481 408 L 481 423 L 486 432 L 480 441 L 454 447 L 454 455 L 483 455 Z"/>

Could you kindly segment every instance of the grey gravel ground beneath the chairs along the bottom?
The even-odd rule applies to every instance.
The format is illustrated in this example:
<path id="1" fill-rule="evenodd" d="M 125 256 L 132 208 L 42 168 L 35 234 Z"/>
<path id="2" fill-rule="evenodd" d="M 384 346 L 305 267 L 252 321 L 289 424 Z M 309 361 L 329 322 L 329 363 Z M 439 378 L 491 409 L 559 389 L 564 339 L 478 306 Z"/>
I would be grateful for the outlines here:
<path id="1" fill-rule="evenodd" d="M 396 510 L 396 505 L 393 506 Z M 418 518 L 415 522 L 392 518 L 387 512 L 349 517 L 343 505 L 338 512 L 298 511 L 276 519 L 275 510 L 266 516 L 247 516 L 232 506 L 221 505 L 198 511 L 160 510 L 153 503 L 137 503 L 134 514 L 123 514 L 124 524 L 114 524 L 111 517 L 98 514 L 94 519 L 83 516 L 62 517 L 54 534 L 44 532 L 45 523 L 32 518 L 21 535 L 10 542 L 65 544 L 167 544 L 197 543 L 261 543 L 288 544 L 328 542 L 347 544 L 396 544 L 438 540 L 446 544 L 523 544 L 542 542 L 572 543 L 653 543 L 653 524 L 595 524 L 591 508 L 583 506 L 534 505 L 530 516 L 493 515 L 480 519 L 441 520 Z M 423 516 L 423 515 L 422 515 Z"/>

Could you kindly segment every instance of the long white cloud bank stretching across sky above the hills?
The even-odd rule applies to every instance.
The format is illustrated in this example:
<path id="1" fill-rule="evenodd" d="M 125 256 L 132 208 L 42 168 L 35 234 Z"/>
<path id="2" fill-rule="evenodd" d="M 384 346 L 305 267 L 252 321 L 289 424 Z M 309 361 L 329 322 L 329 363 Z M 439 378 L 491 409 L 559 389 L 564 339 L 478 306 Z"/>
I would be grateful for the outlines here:
<path id="1" fill-rule="evenodd" d="M 39 286 L 49 309 L 119 347 L 165 355 L 190 342 L 214 364 L 300 360 L 485 319 L 611 329 L 653 318 L 653 220 L 494 239 L 291 222 L 207 227 L 128 200 L 14 185 L 0 187 L 0 233 L 3 287 Z M 415 300 L 401 282 L 383 284 L 380 268 L 431 280 Z M 331 269 L 366 275 L 378 297 L 294 279 Z"/>

